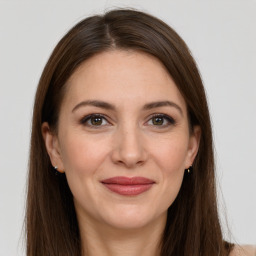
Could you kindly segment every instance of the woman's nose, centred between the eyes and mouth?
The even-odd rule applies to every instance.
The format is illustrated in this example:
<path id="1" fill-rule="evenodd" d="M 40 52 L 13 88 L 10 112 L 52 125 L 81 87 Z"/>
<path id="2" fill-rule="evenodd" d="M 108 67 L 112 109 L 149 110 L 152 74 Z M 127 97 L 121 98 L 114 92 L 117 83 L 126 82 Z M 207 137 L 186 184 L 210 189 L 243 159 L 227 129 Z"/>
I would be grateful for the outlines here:
<path id="1" fill-rule="evenodd" d="M 143 165 L 147 160 L 146 145 L 137 127 L 120 128 L 114 135 L 112 161 L 126 168 Z"/>

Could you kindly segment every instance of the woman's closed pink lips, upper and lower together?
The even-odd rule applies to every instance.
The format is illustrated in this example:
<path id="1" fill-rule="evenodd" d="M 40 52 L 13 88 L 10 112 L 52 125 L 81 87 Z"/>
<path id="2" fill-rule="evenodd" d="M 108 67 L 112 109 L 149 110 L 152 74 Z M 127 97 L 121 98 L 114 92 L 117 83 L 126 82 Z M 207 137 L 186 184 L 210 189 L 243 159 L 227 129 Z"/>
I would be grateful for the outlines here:
<path id="1" fill-rule="evenodd" d="M 117 194 L 136 196 L 149 190 L 155 182 L 144 177 L 117 176 L 102 180 L 101 183 Z"/>

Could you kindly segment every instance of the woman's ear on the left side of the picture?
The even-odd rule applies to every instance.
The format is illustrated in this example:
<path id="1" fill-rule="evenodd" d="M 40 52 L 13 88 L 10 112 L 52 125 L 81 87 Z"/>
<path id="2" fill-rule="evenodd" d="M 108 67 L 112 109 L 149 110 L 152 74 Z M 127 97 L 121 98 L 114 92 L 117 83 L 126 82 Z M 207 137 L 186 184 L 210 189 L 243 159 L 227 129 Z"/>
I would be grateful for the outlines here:
<path id="1" fill-rule="evenodd" d="M 52 166 L 57 166 L 59 172 L 64 172 L 64 166 L 61 158 L 61 151 L 57 135 L 50 130 L 49 124 L 47 122 L 44 122 L 42 124 L 41 129 L 45 147 L 51 159 Z"/>

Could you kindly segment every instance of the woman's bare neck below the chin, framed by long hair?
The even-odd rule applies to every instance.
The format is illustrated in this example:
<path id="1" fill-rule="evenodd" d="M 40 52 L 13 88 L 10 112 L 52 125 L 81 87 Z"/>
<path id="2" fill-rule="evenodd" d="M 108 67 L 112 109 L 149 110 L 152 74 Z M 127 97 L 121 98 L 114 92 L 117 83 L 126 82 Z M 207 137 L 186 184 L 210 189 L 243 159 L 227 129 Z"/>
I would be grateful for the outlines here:
<path id="1" fill-rule="evenodd" d="M 119 229 L 79 218 L 83 256 L 160 256 L 166 214 L 137 229 Z"/>

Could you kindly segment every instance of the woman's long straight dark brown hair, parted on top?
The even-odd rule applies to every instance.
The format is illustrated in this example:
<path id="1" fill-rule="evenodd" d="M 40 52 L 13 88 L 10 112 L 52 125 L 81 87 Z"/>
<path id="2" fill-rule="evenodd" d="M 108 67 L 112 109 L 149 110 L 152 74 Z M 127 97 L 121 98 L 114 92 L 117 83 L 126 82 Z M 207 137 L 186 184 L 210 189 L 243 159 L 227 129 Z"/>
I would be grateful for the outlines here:
<path id="1" fill-rule="evenodd" d="M 188 109 L 191 129 L 202 130 L 193 172 L 185 174 L 168 209 L 161 255 L 224 256 L 232 245 L 223 241 L 217 211 L 210 116 L 200 74 L 179 35 L 163 21 L 140 11 L 112 10 L 86 18 L 58 43 L 39 81 L 31 135 L 26 233 L 27 255 L 81 255 L 72 193 L 65 174 L 56 176 L 41 125 L 58 129 L 58 115 L 68 78 L 91 56 L 111 49 L 146 52 L 168 70 Z"/>

